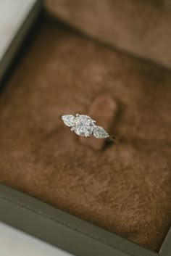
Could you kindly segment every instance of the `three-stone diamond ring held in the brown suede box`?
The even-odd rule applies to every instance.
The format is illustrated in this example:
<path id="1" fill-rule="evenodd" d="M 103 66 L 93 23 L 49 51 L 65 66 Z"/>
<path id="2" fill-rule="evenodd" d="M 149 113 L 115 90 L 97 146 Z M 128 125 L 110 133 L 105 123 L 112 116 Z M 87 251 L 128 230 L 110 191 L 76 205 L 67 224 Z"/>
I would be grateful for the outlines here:
<path id="1" fill-rule="evenodd" d="M 96 121 L 88 115 L 62 115 L 61 118 L 64 124 L 71 127 L 71 131 L 74 131 L 79 136 L 94 136 L 98 139 L 111 137 L 104 128 L 96 125 Z M 114 136 L 110 139 L 114 139 Z"/>

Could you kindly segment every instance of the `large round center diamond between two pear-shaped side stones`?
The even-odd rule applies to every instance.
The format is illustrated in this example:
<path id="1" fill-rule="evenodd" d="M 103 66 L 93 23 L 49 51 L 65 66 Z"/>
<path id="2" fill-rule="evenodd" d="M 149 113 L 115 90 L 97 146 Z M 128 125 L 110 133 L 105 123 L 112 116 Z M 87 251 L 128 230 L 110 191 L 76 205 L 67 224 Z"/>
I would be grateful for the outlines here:
<path id="1" fill-rule="evenodd" d="M 89 137 L 93 133 L 94 121 L 88 115 L 76 115 L 72 131 L 79 136 Z"/>

